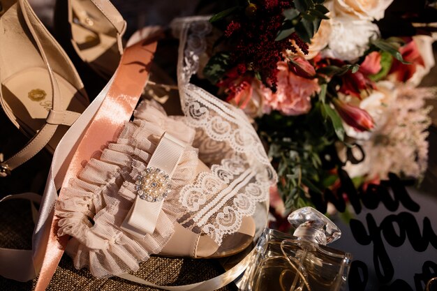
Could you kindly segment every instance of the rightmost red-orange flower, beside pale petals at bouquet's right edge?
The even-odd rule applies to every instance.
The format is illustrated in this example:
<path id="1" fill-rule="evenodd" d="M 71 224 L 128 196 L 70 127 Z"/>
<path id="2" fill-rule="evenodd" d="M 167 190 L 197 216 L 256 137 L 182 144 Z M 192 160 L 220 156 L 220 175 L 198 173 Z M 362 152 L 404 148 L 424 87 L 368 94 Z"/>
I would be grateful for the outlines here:
<path id="1" fill-rule="evenodd" d="M 399 82 L 407 82 L 413 77 L 417 66 L 425 66 L 425 64 L 414 40 L 401 47 L 399 52 L 402 54 L 403 60 L 408 61 L 410 64 L 402 64 L 394 59 L 390 74 L 393 74 Z"/>

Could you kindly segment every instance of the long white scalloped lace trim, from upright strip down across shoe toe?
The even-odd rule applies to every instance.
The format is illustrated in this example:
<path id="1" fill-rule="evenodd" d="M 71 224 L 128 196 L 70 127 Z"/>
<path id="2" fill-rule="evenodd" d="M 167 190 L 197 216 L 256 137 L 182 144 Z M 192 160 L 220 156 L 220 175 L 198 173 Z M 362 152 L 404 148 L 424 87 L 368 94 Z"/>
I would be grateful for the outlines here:
<path id="1" fill-rule="evenodd" d="M 209 17 L 187 17 L 172 23 L 179 36 L 178 85 L 188 126 L 196 128 L 193 143 L 212 172 L 182 188 L 179 202 L 188 214 L 179 223 L 208 234 L 221 244 L 225 234 L 237 232 L 244 216 L 252 216 L 258 202 L 268 199 L 276 173 L 265 149 L 242 110 L 190 83 L 199 68 L 212 31 Z"/>

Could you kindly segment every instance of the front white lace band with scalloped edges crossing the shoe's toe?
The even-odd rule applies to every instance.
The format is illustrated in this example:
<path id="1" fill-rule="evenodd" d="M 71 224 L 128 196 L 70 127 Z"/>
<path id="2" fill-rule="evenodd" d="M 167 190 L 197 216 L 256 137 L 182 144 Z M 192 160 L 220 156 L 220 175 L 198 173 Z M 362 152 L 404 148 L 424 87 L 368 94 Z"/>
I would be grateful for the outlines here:
<path id="1" fill-rule="evenodd" d="M 182 188 L 179 202 L 191 212 L 195 225 L 221 244 L 225 234 L 238 231 L 244 216 L 254 214 L 257 202 L 266 200 L 271 183 L 260 178 L 242 158 L 225 159 Z"/>

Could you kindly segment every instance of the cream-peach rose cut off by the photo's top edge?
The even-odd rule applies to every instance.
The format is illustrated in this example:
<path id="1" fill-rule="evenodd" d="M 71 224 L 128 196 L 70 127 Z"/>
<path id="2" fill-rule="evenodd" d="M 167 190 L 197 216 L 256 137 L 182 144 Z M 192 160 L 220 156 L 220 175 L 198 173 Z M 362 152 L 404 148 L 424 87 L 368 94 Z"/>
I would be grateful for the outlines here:
<path id="1" fill-rule="evenodd" d="M 380 20 L 393 0 L 334 0 L 333 10 L 338 16 L 359 20 Z"/>

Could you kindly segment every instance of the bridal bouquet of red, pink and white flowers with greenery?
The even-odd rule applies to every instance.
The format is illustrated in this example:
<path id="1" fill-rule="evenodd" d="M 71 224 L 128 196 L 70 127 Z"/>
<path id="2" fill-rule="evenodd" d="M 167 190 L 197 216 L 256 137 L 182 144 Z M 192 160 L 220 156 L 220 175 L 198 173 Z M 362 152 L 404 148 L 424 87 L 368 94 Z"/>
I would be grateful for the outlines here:
<path id="1" fill-rule="evenodd" d="M 245 0 L 211 18 L 199 77 L 253 120 L 286 209 L 390 172 L 422 177 L 434 93 L 417 84 L 434 66 L 431 4 Z"/>

